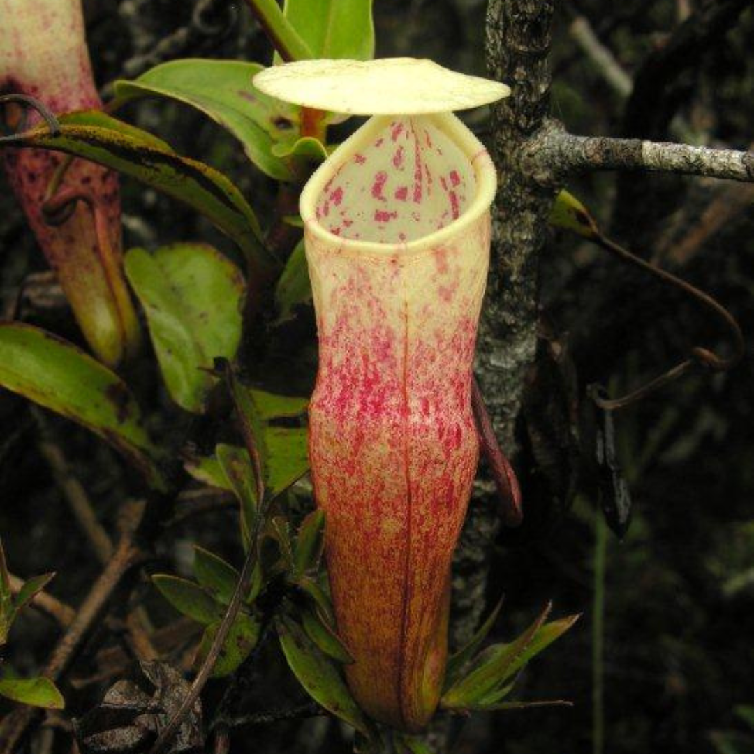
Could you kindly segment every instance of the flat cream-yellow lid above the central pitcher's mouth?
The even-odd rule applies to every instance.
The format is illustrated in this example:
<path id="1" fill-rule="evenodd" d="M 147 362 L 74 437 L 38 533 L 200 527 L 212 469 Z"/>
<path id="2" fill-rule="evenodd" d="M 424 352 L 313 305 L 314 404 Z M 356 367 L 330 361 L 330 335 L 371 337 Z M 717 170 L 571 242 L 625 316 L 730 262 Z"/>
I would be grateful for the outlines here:
<path id="1" fill-rule="evenodd" d="M 488 78 L 413 57 L 301 60 L 259 72 L 254 86 L 294 105 L 347 115 L 427 115 L 487 105 L 510 94 Z"/>

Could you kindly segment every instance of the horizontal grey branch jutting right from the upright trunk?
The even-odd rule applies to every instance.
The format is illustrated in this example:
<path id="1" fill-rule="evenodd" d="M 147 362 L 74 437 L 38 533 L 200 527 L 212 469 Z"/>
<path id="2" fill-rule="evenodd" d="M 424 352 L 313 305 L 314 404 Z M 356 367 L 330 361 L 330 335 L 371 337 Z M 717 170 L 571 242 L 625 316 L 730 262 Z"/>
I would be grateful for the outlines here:
<path id="1" fill-rule="evenodd" d="M 754 152 L 711 149 L 647 139 L 574 136 L 550 121 L 538 134 L 528 154 L 536 163 L 538 179 L 556 183 L 572 173 L 594 170 L 642 170 L 686 176 L 710 176 L 754 181 Z"/>

